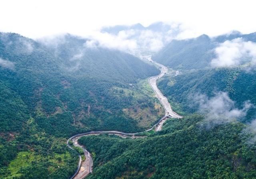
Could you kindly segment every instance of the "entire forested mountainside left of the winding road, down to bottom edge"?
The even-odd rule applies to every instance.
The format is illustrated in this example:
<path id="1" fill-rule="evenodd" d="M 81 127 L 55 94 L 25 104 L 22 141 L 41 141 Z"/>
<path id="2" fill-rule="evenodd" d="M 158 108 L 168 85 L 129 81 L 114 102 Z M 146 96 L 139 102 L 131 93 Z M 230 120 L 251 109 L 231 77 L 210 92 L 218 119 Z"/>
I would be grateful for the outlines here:
<path id="1" fill-rule="evenodd" d="M 140 131 L 162 116 L 146 80 L 157 68 L 86 41 L 0 33 L 1 179 L 68 178 L 78 162 L 71 135 Z"/>

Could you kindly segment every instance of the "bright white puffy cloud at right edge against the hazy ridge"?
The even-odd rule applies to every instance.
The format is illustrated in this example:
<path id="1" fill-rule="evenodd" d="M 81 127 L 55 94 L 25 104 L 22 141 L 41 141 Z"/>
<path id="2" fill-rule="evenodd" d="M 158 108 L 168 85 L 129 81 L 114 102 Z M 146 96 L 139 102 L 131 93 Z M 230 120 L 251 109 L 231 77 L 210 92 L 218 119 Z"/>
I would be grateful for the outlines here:
<path id="1" fill-rule="evenodd" d="M 243 64 L 256 65 L 256 43 L 242 38 L 226 40 L 216 49 L 216 58 L 212 59 L 212 67 L 235 67 Z"/>

